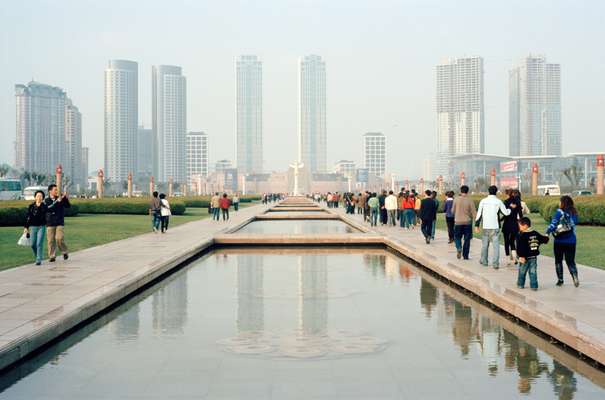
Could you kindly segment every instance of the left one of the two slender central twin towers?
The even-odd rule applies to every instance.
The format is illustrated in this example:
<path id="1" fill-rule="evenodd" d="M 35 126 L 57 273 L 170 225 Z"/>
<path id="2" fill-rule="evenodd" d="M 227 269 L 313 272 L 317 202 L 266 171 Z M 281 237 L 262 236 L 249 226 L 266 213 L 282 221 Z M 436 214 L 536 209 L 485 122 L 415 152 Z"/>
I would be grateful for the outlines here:
<path id="1" fill-rule="evenodd" d="M 237 60 L 237 169 L 263 170 L 263 65 L 252 55 Z"/>

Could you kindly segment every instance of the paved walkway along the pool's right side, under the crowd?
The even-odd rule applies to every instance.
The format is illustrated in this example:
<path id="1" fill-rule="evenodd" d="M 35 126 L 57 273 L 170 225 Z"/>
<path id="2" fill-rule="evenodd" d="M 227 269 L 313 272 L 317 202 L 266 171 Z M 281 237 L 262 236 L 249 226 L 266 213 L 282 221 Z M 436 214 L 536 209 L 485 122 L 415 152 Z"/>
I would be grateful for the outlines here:
<path id="1" fill-rule="evenodd" d="M 388 226 L 371 229 L 361 215 L 326 210 L 384 235 L 387 246 L 605 365 L 605 271 L 578 265 L 580 287 L 573 286 L 567 271 L 565 285 L 557 287 L 554 258 L 540 256 L 540 289 L 518 289 L 516 266 L 507 267 L 502 259 L 498 270 L 479 264 L 479 239 L 472 241 L 471 259 L 458 260 L 445 231 L 437 231 L 435 240 L 427 245 L 420 227 L 409 231 Z"/>

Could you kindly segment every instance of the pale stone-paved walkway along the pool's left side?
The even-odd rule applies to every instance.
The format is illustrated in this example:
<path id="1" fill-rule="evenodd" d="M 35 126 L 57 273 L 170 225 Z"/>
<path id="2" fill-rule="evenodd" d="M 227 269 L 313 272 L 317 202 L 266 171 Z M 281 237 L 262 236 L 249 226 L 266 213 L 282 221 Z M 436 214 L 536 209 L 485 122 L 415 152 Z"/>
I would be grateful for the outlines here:
<path id="1" fill-rule="evenodd" d="M 255 205 L 231 213 L 91 247 L 57 259 L 0 272 L 0 369 L 98 314 L 196 256 L 217 233 L 266 210 Z M 91 227 L 94 229 L 94 227 Z M 151 230 L 151 222 L 150 222 Z"/>

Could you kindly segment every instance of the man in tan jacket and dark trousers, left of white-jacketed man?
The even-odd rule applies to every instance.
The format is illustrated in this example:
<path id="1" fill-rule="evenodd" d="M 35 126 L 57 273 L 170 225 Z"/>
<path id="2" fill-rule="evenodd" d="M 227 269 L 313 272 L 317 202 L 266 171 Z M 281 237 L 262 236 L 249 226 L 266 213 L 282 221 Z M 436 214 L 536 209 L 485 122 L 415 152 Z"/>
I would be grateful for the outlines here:
<path id="1" fill-rule="evenodd" d="M 468 186 L 460 187 L 460 196 L 454 199 L 451 213 L 454 215 L 454 243 L 456 256 L 468 260 L 473 239 L 473 221 L 475 220 L 475 203 L 468 197 Z M 464 245 L 463 243 L 464 239 Z"/>

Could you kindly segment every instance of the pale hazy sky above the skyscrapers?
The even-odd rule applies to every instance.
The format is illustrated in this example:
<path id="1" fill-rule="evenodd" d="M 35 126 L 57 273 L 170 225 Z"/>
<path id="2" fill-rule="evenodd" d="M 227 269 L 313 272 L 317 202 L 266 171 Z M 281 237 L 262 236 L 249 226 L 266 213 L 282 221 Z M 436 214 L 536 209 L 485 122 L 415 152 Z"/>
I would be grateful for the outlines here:
<path id="1" fill-rule="evenodd" d="M 14 85 L 60 86 L 83 114 L 90 169 L 103 163 L 103 70 L 139 63 L 139 118 L 151 125 L 151 66 L 187 77 L 188 130 L 211 162 L 235 159 L 235 59 L 263 61 L 265 168 L 296 156 L 297 60 L 327 68 L 328 162 L 361 163 L 361 135 L 387 135 L 388 170 L 422 172 L 436 145 L 434 66 L 484 57 L 486 152 L 506 153 L 508 69 L 529 53 L 561 64 L 563 151 L 605 151 L 605 1 L 0 2 L 0 162 L 14 162 Z"/>

